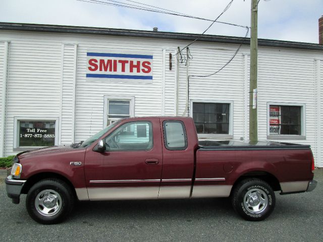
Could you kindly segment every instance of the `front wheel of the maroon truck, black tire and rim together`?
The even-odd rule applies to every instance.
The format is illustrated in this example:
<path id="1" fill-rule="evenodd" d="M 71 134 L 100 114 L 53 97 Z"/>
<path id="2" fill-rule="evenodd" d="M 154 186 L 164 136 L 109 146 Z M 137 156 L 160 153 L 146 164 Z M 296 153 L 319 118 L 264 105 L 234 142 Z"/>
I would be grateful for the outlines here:
<path id="1" fill-rule="evenodd" d="M 31 187 L 26 198 L 27 211 L 38 223 L 60 223 L 74 206 L 74 195 L 65 181 L 51 178 L 38 181 Z"/>

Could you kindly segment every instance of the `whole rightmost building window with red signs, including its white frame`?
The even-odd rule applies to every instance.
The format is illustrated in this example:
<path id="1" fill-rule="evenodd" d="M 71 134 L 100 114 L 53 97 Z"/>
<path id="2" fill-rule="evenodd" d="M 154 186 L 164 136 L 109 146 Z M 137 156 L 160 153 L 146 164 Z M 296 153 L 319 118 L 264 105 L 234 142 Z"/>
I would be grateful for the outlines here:
<path id="1" fill-rule="evenodd" d="M 300 139 L 304 137 L 305 105 L 268 104 L 268 138 Z"/>

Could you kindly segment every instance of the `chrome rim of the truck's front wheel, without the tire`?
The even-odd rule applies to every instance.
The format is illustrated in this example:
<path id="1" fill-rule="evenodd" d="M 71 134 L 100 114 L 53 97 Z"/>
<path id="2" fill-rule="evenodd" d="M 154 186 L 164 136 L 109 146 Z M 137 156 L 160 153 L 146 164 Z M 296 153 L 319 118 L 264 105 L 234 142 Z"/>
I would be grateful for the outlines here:
<path id="1" fill-rule="evenodd" d="M 36 196 L 35 207 L 37 212 L 43 216 L 54 216 L 62 208 L 62 198 L 54 190 L 43 190 Z"/>

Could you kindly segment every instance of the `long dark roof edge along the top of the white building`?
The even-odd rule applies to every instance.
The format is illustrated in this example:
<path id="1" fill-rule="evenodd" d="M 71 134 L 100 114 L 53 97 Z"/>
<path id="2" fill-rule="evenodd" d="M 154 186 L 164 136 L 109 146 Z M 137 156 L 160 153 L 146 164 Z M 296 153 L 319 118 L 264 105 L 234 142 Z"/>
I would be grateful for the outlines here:
<path id="1" fill-rule="evenodd" d="M 110 29 L 95 27 L 79 27 L 64 25 L 44 25 L 44 24 L 24 24 L 24 23 L 4 23 L 0 22 L 0 30 L 11 31 L 31 31 L 31 32 L 47 32 L 47 33 L 65 33 L 65 34 L 89 34 L 89 35 L 107 35 L 137 38 L 156 38 L 171 40 L 193 41 L 198 37 L 201 42 L 229 43 L 241 44 L 243 37 L 221 36 L 221 35 L 202 35 L 189 33 L 174 33 L 161 31 L 145 31 L 131 29 Z M 246 38 L 245 45 L 250 45 L 250 38 Z M 280 47 L 306 50 L 323 50 L 322 44 L 303 43 L 284 40 L 258 39 L 259 46 Z"/>

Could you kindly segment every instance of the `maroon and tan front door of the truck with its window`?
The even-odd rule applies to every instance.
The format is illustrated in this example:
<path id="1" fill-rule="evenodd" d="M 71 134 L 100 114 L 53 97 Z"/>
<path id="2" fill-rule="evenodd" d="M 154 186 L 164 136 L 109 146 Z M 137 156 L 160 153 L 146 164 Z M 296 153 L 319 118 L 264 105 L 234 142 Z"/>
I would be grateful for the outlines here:
<path id="1" fill-rule="evenodd" d="M 86 151 L 89 199 L 157 199 L 163 165 L 159 118 L 125 123 L 105 143 L 105 152 Z"/>

